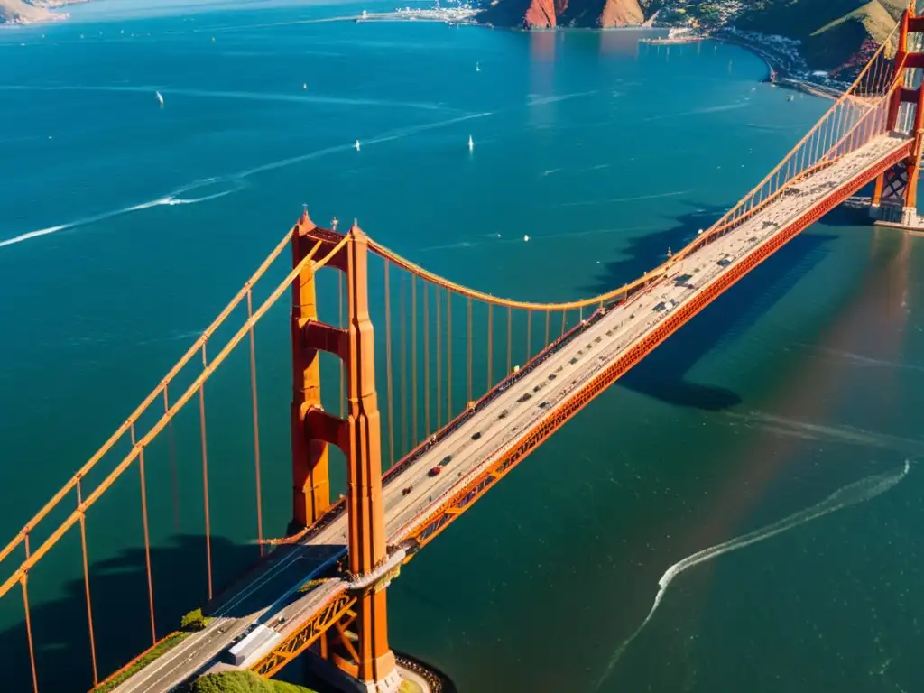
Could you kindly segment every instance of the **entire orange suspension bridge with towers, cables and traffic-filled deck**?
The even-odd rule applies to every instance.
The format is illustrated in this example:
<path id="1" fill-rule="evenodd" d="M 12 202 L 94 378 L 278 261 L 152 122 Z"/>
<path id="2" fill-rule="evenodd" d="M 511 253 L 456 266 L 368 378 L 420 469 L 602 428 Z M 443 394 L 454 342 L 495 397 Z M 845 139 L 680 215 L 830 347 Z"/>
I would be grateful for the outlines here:
<path id="1" fill-rule="evenodd" d="M 712 300 L 860 188 L 874 184 L 873 217 L 921 227 L 922 36 L 924 16 L 907 10 L 853 85 L 748 195 L 661 265 L 600 296 L 562 303 L 498 298 L 428 272 L 356 223 L 339 233 L 315 225 L 306 211 L 152 393 L 0 551 L 0 599 L 18 593 L 22 602 L 29 652 L 22 665 L 35 693 L 43 674 L 30 572 L 75 532 L 87 671 L 94 687 L 114 681 L 98 667 L 97 643 L 106 633 L 94 628 L 87 524 L 88 512 L 129 468 L 139 475 L 152 648 L 174 637 L 155 619 L 145 464 L 164 439 L 176 460 L 174 425 L 183 411 L 198 415 L 199 423 L 208 619 L 152 663 L 116 672 L 114 689 L 172 690 L 219 662 L 271 676 L 310 650 L 367 690 L 397 690 L 405 670 L 389 645 L 386 588 L 480 496 Z M 286 249 L 291 269 L 274 282 Z M 318 298 L 322 270 L 334 273 L 338 287 L 337 310 L 327 321 Z M 381 292 L 371 291 L 373 275 L 381 277 Z M 259 304 L 258 288 L 267 292 Z M 292 521 L 285 538 L 267 539 L 254 328 L 286 292 L 292 298 Z M 373 307 L 374 300 L 383 306 Z M 235 328 L 238 310 L 247 317 Z M 376 353 L 371 314 L 383 316 L 377 330 L 384 358 Z M 234 332 L 217 346 L 223 327 Z M 249 361 L 261 559 L 230 586 L 216 586 L 206 385 L 238 347 Z M 322 353 L 339 362 L 332 408 L 322 406 Z M 332 446 L 346 460 L 346 494 L 337 499 Z M 91 484 L 91 473 L 106 463 L 112 468 Z M 259 640 L 250 638 L 257 626 Z"/>

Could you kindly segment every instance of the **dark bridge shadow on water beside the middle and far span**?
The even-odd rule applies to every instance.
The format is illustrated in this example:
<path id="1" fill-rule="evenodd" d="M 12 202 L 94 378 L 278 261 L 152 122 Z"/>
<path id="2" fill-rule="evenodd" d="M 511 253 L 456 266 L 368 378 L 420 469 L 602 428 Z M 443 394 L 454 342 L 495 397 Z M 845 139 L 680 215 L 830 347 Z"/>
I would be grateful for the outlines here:
<path id="1" fill-rule="evenodd" d="M 675 218 L 675 225 L 670 228 L 632 238 L 625 257 L 606 262 L 602 274 L 587 289 L 600 294 L 641 276 L 661 264 L 668 249 L 683 248 L 697 236 L 699 229 L 709 228 L 725 211 L 702 204 L 691 206 L 696 211 Z M 845 225 L 856 224 L 851 221 L 852 215 L 845 216 L 839 210 L 826 217 L 826 224 L 830 223 L 829 217 Z M 723 387 L 691 383 L 687 380 L 688 371 L 712 348 L 745 331 L 771 310 L 779 298 L 815 268 L 833 238 L 832 234 L 818 232 L 793 238 L 665 340 L 620 378 L 618 384 L 680 407 L 708 411 L 735 407 L 741 402 L 740 395 Z"/>

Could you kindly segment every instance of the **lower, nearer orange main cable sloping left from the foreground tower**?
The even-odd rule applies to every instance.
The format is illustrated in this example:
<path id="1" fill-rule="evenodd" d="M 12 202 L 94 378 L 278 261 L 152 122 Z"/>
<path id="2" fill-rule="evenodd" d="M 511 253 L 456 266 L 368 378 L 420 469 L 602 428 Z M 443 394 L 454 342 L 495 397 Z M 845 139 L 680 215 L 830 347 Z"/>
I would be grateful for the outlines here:
<path id="1" fill-rule="evenodd" d="M 288 237 L 286 237 L 286 242 L 287 241 L 288 241 Z M 334 249 L 332 249 L 321 261 L 313 262 L 314 268 L 319 269 L 323 267 L 328 261 L 330 261 L 331 257 L 336 252 L 339 252 L 339 250 L 342 249 L 345 245 L 346 245 L 346 238 L 343 238 L 337 243 Z M 67 533 L 67 530 L 71 529 L 75 524 L 77 524 L 79 522 L 79 518 L 82 517 L 83 514 L 86 513 L 86 511 L 92 505 L 96 504 L 96 502 L 100 499 L 103 493 L 106 492 L 116 482 L 116 480 L 125 472 L 125 470 L 131 466 L 132 462 L 134 462 L 135 459 L 137 459 L 140 453 L 140 450 L 143 449 L 144 447 L 147 447 L 149 444 L 151 444 L 152 440 L 160 432 L 164 430 L 164 428 L 167 425 L 167 422 L 176 416 L 176 412 L 178 412 L 182 407 L 185 407 L 188 401 L 192 399 L 192 397 L 195 396 L 199 392 L 199 388 L 201 387 L 201 384 L 205 383 L 205 381 L 208 380 L 212 376 L 213 372 L 222 363 L 225 362 L 225 359 L 227 359 L 228 355 L 231 353 L 234 347 L 237 346 L 241 342 L 241 340 L 243 340 L 243 338 L 248 334 L 250 326 L 252 324 L 256 324 L 256 322 L 259 322 L 261 320 L 261 318 L 266 313 L 266 311 L 269 310 L 274 305 L 276 300 L 278 300 L 278 298 L 282 296 L 282 294 L 286 291 L 286 288 L 291 286 L 292 282 L 298 276 L 298 272 L 302 269 L 302 267 L 307 265 L 309 262 L 311 261 L 308 258 L 300 262 L 298 266 L 295 269 L 293 269 L 292 272 L 288 274 L 288 276 L 286 276 L 286 279 L 284 279 L 281 284 L 276 286 L 276 288 L 273 290 L 270 296 L 261 303 L 260 308 L 254 311 L 253 317 L 249 319 L 247 322 L 245 322 L 237 330 L 237 333 L 235 333 L 228 340 L 228 342 L 225 344 L 224 347 L 222 347 L 222 349 L 218 352 L 215 358 L 212 359 L 212 362 L 209 363 L 208 366 L 206 366 L 202 370 L 202 372 L 193 380 L 193 382 L 189 384 L 188 388 L 184 391 L 184 393 L 180 395 L 179 398 L 177 398 L 173 406 L 171 406 L 170 409 L 167 412 L 165 412 L 164 415 L 160 419 L 158 419 L 158 421 L 152 426 L 149 432 L 145 433 L 140 438 L 138 443 L 132 447 L 128 455 L 125 456 L 122 459 L 122 461 L 119 462 L 119 464 L 116 466 L 116 468 L 114 468 L 111 472 L 109 472 L 109 474 L 105 477 L 105 479 L 103 479 L 103 481 L 100 482 L 100 484 L 83 500 L 79 508 L 74 510 L 68 517 L 66 517 L 58 525 L 58 527 L 54 531 L 51 532 L 51 534 L 45 539 L 45 541 L 42 542 L 39 548 L 36 549 L 34 552 L 30 552 L 30 555 L 26 558 L 26 560 L 24 560 L 19 565 L 19 567 L 13 572 L 13 574 L 7 577 L 6 581 L 0 584 L 0 597 L 3 597 L 4 595 L 6 595 L 6 593 L 10 589 L 12 589 L 12 587 L 14 587 L 23 577 L 25 577 L 30 571 L 30 569 L 34 567 L 39 561 L 41 561 L 43 556 L 46 553 L 48 553 L 58 541 L 61 540 L 61 538 Z M 243 296 L 245 293 L 246 292 L 242 291 L 241 295 Z M 197 344 L 201 345 L 201 344 L 204 344 L 204 342 L 200 341 Z M 197 351 L 198 350 L 199 350 L 199 347 L 197 347 Z M 156 392 L 159 395 L 161 393 L 161 388 L 158 387 Z M 126 427 L 126 431 L 128 431 L 128 426 Z M 77 477 L 75 477 L 74 484 L 76 484 L 76 480 L 77 480 Z M 74 488 L 74 484 L 70 484 L 70 482 L 68 482 L 67 488 L 68 489 Z"/>

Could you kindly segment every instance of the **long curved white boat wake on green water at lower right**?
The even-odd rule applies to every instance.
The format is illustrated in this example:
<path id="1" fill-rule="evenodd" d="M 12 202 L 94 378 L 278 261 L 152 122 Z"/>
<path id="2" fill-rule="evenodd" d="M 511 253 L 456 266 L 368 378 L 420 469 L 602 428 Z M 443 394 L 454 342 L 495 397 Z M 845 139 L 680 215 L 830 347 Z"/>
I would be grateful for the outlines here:
<path id="1" fill-rule="evenodd" d="M 788 529 L 794 529 L 799 525 L 804 525 L 806 522 L 817 519 L 819 517 L 823 517 L 837 510 L 843 510 L 844 508 L 850 507 L 851 505 L 857 505 L 858 503 L 869 501 L 876 496 L 887 492 L 899 481 L 905 479 L 910 468 L 910 462 L 905 460 L 905 467 L 900 471 L 874 474 L 867 477 L 866 479 L 854 481 L 853 483 L 846 485 L 844 488 L 833 492 L 831 495 L 821 501 L 821 503 L 812 505 L 805 510 L 800 510 L 799 512 L 794 513 L 788 517 L 784 517 L 783 519 L 772 523 L 772 525 L 767 525 L 761 529 L 755 529 L 752 532 L 748 532 L 748 534 L 736 537 L 735 539 L 730 539 L 729 541 L 723 541 L 723 543 L 711 546 L 708 549 L 703 549 L 702 551 L 689 555 L 682 561 L 678 561 L 674 565 L 671 565 L 671 567 L 667 569 L 667 572 L 663 574 L 661 579 L 658 580 L 658 593 L 654 597 L 654 603 L 651 605 L 651 610 L 648 615 L 645 616 L 645 620 L 641 622 L 641 626 L 638 626 L 632 635 L 626 638 L 626 640 L 624 640 L 623 643 L 618 648 L 616 648 L 613 655 L 610 657 L 610 661 L 606 663 L 606 669 L 603 671 L 602 676 L 597 680 L 597 683 L 594 684 L 591 690 L 599 690 L 606 679 L 609 678 L 609 675 L 613 673 L 613 669 L 616 663 L 622 659 L 622 656 L 628 649 L 629 645 L 632 644 L 632 641 L 635 638 L 638 638 L 638 634 L 641 633 L 644 627 L 648 625 L 651 617 L 654 615 L 654 612 L 657 611 L 658 605 L 661 604 L 661 600 L 664 597 L 664 592 L 667 591 L 671 581 L 682 572 L 687 570 L 687 568 L 691 568 L 694 565 L 699 565 L 700 563 L 705 563 L 706 561 L 711 561 L 713 558 L 721 556 L 723 553 L 737 551 L 738 549 L 743 549 L 746 546 L 757 543 L 758 541 L 770 539 L 772 536 L 781 534 Z"/>

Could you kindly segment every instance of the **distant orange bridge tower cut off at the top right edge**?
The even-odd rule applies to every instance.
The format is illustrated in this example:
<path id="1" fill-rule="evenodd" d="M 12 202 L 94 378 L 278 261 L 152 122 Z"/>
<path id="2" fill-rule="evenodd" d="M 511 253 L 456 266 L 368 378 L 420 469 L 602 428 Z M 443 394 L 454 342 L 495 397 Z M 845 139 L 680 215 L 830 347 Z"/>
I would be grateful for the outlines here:
<path id="1" fill-rule="evenodd" d="M 889 131 L 914 137 L 914 147 L 905 160 L 876 178 L 869 210 L 874 219 L 906 228 L 922 227 L 918 216 L 918 181 L 924 154 L 924 15 L 914 0 L 902 15 L 895 50 L 895 79 L 901 86 L 889 103 Z"/>

